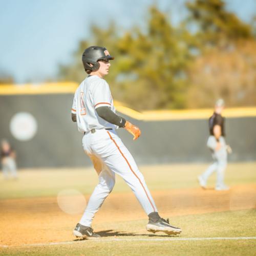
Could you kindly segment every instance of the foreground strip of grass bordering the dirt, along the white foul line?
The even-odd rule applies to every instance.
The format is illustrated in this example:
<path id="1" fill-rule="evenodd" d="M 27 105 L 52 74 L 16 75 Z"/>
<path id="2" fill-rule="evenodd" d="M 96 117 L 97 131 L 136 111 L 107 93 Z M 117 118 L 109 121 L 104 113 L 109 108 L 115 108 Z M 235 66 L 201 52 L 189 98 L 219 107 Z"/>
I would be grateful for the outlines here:
<path id="1" fill-rule="evenodd" d="M 145 221 L 112 223 L 120 235 L 99 240 L 83 240 L 70 244 L 40 246 L 17 246 L 2 248 L 2 255 L 255 255 L 256 239 L 234 239 L 254 237 L 256 210 L 218 212 L 203 215 L 175 217 L 182 226 L 180 237 L 159 234 L 145 235 L 141 230 Z M 254 220 L 254 224 L 253 224 Z M 97 228 L 104 225 L 96 225 Z M 107 225 L 106 225 L 107 226 Z M 185 240 L 202 238 L 206 240 Z M 208 238 L 220 238 L 208 240 Z M 179 240 L 180 239 L 180 240 Z M 181 240 L 183 239 L 183 240 Z"/>

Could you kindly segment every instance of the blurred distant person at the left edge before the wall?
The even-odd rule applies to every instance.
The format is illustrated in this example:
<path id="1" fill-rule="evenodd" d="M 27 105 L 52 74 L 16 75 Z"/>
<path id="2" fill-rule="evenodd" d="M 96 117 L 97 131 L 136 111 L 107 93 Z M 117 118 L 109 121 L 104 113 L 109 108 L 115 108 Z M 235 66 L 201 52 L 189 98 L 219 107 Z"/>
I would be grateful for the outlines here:
<path id="1" fill-rule="evenodd" d="M 6 179 L 12 177 L 17 178 L 17 168 L 15 162 L 15 152 L 12 150 L 9 142 L 3 140 L 1 143 L 1 164 L 3 169 L 3 174 Z"/>

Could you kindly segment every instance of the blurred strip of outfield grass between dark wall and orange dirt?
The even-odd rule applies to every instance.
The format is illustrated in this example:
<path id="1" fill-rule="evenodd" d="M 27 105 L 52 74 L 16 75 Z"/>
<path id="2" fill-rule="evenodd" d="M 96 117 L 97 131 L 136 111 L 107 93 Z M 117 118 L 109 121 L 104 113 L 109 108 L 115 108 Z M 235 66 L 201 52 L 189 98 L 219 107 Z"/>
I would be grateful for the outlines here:
<path id="1" fill-rule="evenodd" d="M 141 166 L 147 186 L 151 190 L 198 187 L 197 176 L 207 164 L 174 164 Z M 113 192 L 131 191 L 124 181 L 116 176 Z M 208 185 L 214 187 L 215 175 Z M 228 185 L 256 182 L 256 163 L 230 163 L 226 170 Z M 0 176 L 0 199 L 56 196 L 63 189 L 77 189 L 82 194 L 91 194 L 97 184 L 97 174 L 91 168 L 21 170 L 19 179 L 4 180 Z"/>

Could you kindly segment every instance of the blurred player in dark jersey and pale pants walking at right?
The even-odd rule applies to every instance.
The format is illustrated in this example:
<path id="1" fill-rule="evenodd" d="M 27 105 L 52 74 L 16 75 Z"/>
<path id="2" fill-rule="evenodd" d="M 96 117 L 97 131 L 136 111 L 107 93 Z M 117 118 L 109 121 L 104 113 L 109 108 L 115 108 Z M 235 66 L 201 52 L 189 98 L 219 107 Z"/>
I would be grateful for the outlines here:
<path id="1" fill-rule="evenodd" d="M 221 116 L 224 109 L 224 100 L 218 99 L 215 104 L 214 114 L 209 118 L 210 136 L 207 141 L 207 147 L 210 148 L 214 163 L 212 163 L 205 172 L 198 177 L 201 187 L 206 188 L 209 176 L 217 172 L 216 190 L 228 190 L 229 187 L 224 183 L 224 173 L 227 166 L 227 151 L 231 152 L 231 148 L 226 145 L 224 136 L 224 121 Z"/>

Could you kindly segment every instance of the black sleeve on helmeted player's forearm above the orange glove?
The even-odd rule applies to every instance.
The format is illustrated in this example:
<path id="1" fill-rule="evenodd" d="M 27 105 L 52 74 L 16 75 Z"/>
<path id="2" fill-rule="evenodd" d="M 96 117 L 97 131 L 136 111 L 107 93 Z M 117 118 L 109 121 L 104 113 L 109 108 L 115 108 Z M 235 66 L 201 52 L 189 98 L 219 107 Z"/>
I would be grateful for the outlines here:
<path id="1" fill-rule="evenodd" d="M 107 122 L 113 123 L 119 127 L 124 127 L 126 120 L 123 117 L 116 115 L 108 106 L 99 106 L 96 109 L 99 117 Z"/>

